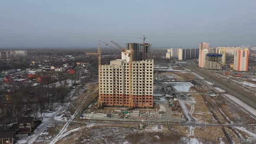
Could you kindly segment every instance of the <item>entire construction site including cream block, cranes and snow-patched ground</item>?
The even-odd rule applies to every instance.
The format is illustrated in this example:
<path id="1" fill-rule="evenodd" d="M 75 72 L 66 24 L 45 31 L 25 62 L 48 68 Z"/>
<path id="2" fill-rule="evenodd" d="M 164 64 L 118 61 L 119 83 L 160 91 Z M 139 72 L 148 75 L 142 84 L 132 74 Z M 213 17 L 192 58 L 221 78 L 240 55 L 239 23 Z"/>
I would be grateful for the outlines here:
<path id="1" fill-rule="evenodd" d="M 74 101 L 47 114 L 49 122 L 26 141 L 31 144 L 256 142 L 255 109 L 218 87 L 215 81 L 201 76 L 194 70 L 199 68 L 193 62 L 154 64 L 152 53 L 147 53 L 151 44 L 128 43 L 129 48 L 124 48 L 111 42 L 115 46 L 100 41 L 119 49 L 121 59 L 102 65 L 100 44 L 98 52 L 87 53 L 98 56 L 98 79 L 75 88 L 71 98 Z M 230 85 L 240 83 L 241 87 L 253 81 L 246 82 L 243 74 L 211 75 L 230 81 Z M 251 85 L 247 89 L 255 91 L 254 88 Z"/>

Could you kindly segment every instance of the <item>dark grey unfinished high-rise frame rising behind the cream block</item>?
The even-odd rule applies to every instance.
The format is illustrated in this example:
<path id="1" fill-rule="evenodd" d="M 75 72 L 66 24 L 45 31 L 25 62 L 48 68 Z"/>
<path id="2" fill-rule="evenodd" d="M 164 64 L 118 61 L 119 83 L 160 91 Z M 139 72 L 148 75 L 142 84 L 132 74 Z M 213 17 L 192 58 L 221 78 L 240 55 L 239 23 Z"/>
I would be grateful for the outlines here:
<path id="1" fill-rule="evenodd" d="M 152 51 L 150 43 L 127 43 L 127 49 L 130 49 L 130 46 L 133 47 L 134 54 L 133 60 L 134 61 L 141 61 L 146 59 L 152 59 Z"/>

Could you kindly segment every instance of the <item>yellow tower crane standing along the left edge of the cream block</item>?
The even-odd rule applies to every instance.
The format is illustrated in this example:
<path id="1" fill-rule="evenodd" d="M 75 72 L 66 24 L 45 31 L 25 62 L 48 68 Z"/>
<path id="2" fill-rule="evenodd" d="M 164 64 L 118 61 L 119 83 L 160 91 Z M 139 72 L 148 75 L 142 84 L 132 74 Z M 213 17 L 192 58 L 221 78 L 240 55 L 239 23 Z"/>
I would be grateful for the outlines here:
<path id="1" fill-rule="evenodd" d="M 98 43 L 98 52 L 87 52 L 88 55 L 97 55 L 98 56 L 98 107 L 102 107 L 102 98 L 101 98 L 101 48 L 100 43 Z"/>

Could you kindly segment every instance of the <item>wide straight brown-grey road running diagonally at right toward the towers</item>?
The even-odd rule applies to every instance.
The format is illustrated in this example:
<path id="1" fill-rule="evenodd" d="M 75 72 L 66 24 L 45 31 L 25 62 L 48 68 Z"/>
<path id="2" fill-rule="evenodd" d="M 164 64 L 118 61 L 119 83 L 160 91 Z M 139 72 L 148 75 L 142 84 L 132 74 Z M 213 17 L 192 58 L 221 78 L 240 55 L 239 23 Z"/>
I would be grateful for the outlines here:
<path id="1" fill-rule="evenodd" d="M 188 64 L 181 64 L 181 65 L 199 74 L 206 80 L 210 82 L 214 82 L 214 85 L 216 85 L 217 87 L 224 89 L 226 92 L 230 93 L 230 95 L 233 95 L 236 98 L 239 98 L 241 101 L 244 101 L 247 105 L 250 105 L 251 107 L 256 109 L 256 96 L 253 93 L 248 92 L 243 88 L 240 88 L 239 86 L 237 86 L 237 84 L 227 85 L 226 81 L 216 77 L 215 75 L 211 74 L 210 72 L 207 72 L 204 69 L 200 69 Z"/>

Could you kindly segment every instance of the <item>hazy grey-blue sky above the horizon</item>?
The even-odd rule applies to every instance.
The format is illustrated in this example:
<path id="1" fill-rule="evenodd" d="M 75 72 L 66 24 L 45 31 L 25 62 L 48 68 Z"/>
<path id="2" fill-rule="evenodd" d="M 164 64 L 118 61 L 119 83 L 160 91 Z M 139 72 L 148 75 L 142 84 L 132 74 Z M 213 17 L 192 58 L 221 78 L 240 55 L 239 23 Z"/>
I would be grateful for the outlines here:
<path id="1" fill-rule="evenodd" d="M 0 47 L 256 46 L 256 0 L 0 0 Z"/>

